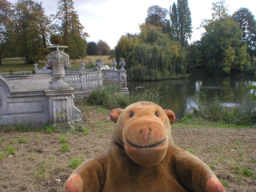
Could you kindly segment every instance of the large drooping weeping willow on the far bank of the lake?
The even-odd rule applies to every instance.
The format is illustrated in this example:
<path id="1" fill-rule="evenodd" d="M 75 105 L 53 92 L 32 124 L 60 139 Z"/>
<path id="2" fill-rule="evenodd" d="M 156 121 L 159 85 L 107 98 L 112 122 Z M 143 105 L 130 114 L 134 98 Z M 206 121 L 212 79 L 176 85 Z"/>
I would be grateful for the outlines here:
<path id="1" fill-rule="evenodd" d="M 180 43 L 171 41 L 167 34 L 161 32 L 161 28 L 140 27 L 140 34 L 123 36 L 115 48 L 117 59 L 126 59 L 127 78 L 146 81 L 186 75 L 186 52 Z"/>

